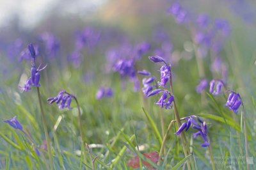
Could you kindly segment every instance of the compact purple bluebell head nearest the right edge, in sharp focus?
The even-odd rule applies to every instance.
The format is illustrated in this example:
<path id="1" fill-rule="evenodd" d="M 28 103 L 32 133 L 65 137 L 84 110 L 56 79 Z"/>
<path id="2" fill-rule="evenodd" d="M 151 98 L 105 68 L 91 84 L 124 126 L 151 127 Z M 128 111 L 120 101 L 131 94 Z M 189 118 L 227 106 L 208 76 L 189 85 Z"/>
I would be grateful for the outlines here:
<path id="1" fill-rule="evenodd" d="M 225 106 L 228 107 L 233 112 L 237 113 L 241 104 L 242 104 L 242 101 L 239 93 L 235 93 L 234 91 L 231 91 Z"/>

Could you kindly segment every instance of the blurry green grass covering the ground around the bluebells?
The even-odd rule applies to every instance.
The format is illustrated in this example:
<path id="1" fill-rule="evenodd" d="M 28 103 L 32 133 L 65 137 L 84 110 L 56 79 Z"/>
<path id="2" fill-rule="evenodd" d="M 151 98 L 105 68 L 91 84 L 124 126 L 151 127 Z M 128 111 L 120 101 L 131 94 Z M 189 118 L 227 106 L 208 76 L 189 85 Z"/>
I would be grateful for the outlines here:
<path id="1" fill-rule="evenodd" d="M 24 80 L 30 76 L 30 61 L 8 60 L 5 54 L 1 54 L 1 63 L 10 67 L 6 75 L 0 75 L 3 80 L 0 82 L 0 120 L 16 115 L 31 140 L 20 130 L 0 123 L 0 169 L 132 169 L 127 166 L 127 162 L 136 155 L 140 158 L 138 169 L 145 167 L 144 161 L 155 169 L 256 169 L 256 163 L 253 164 L 256 155 L 255 52 L 246 50 L 243 53 L 252 44 L 247 44 L 244 39 L 243 42 L 238 42 L 236 38 L 239 37 L 239 31 L 236 31 L 235 29 L 230 35 L 221 55 L 229 68 L 228 89 L 240 93 L 246 117 L 243 116 L 245 112 L 241 115 L 241 110 L 234 114 L 225 107 L 225 93 L 213 96 L 207 93 L 208 89 L 203 92 L 204 95 L 196 93 L 195 87 L 200 75 L 195 52 L 191 53 L 189 61 L 180 58 L 177 65 L 172 65 L 175 103 L 180 118 L 190 115 L 202 118 L 207 122 L 211 141 L 211 150 L 202 148 L 202 138 L 193 139 L 192 135 L 196 131 L 189 128 L 184 135 L 191 153 L 186 157 L 180 137 L 174 134 L 177 131 L 176 123 L 173 121 L 172 127 L 168 127 L 175 120 L 173 109 L 159 111 L 159 106 L 154 104 L 157 97 L 141 97 L 140 92 L 132 91 L 133 84 L 129 79 L 120 79 L 118 73 L 107 73 L 104 70 L 106 59 L 102 58 L 104 50 L 90 52 L 83 49 L 84 60 L 79 68 L 74 67 L 68 59 L 61 58 L 61 55 L 52 60 L 44 55 L 38 56 L 37 62 L 47 63 L 47 68 L 40 72 L 45 127 L 40 116 L 36 88 L 32 87 L 28 92 L 22 92 L 18 88 L 18 84 L 24 84 Z M 178 38 L 173 37 L 178 41 L 174 42 L 176 49 L 182 49 Z M 147 58 L 152 54 L 152 50 L 145 54 L 136 62 L 136 68 L 150 70 L 159 81 L 159 65 L 150 63 Z M 211 59 L 203 58 L 201 64 L 203 67 L 200 66 L 200 69 L 205 69 L 205 76 L 213 78 L 209 69 Z M 94 76 L 89 81 L 84 81 L 84 74 L 90 72 Z M 95 94 L 100 86 L 113 88 L 113 97 L 97 100 Z M 47 98 L 57 95 L 61 89 L 76 95 L 79 105 L 73 101 L 70 110 L 60 110 L 56 104 L 49 105 Z M 44 130 L 49 133 L 51 141 L 50 155 L 44 149 Z M 245 132 L 247 142 L 244 142 Z M 39 149 L 40 156 L 36 155 L 35 147 Z M 159 153 L 160 150 L 162 157 L 158 164 L 143 155 L 152 151 Z M 249 157 L 250 164 L 246 164 L 246 157 Z M 191 167 L 186 162 L 190 162 Z"/>

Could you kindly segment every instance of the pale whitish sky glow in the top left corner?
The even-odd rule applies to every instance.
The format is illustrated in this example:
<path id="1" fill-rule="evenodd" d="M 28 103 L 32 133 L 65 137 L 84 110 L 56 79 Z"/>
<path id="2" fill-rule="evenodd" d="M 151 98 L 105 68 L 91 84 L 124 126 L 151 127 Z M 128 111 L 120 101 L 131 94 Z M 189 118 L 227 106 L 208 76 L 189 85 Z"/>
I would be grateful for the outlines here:
<path id="1" fill-rule="evenodd" d="M 108 0 L 0 0 L 0 27 L 5 27 L 13 17 L 20 20 L 21 27 L 33 27 L 44 19 L 51 10 L 60 13 L 81 14 L 97 7 Z"/>

